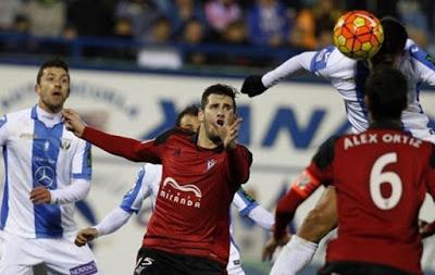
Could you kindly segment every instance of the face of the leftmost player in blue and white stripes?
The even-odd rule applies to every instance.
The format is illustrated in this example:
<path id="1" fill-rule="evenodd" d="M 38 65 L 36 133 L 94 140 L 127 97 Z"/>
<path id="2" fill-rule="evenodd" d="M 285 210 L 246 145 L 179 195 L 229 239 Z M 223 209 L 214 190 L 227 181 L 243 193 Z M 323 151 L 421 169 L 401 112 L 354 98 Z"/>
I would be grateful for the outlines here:
<path id="1" fill-rule="evenodd" d="M 58 113 L 70 93 L 70 75 L 62 67 L 46 67 L 35 89 L 39 95 L 39 107 L 47 112 Z"/>

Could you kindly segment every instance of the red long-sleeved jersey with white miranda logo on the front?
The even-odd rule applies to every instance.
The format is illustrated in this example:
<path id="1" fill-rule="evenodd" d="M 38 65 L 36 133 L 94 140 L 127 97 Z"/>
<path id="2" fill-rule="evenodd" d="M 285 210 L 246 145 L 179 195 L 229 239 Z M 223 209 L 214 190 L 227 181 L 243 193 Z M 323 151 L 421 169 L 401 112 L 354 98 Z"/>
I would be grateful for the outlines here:
<path id="1" fill-rule="evenodd" d="M 252 162 L 247 148 L 203 149 L 197 146 L 196 135 L 181 129 L 140 142 L 87 127 L 84 138 L 129 160 L 163 164 L 144 246 L 226 265 L 229 205 L 240 184 L 248 180 Z"/>

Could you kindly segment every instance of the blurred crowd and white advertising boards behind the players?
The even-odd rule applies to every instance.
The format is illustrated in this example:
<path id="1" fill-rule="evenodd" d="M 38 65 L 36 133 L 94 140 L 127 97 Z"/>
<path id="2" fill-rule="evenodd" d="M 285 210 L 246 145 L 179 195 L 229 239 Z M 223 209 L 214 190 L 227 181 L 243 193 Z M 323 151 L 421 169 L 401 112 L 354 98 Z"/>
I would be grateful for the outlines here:
<path id="1" fill-rule="evenodd" d="M 352 9 L 399 17 L 420 46 L 435 52 L 431 0 L 0 0 L 0 110 L 35 104 L 37 65 L 59 55 L 72 66 L 67 107 L 104 130 L 152 138 L 171 127 L 181 109 L 198 103 L 207 86 L 240 88 L 248 74 L 331 45 L 336 18 Z M 433 90 L 425 87 L 421 98 L 435 117 Z M 349 129 L 345 108 L 328 85 L 312 76 L 238 100 L 244 117 L 239 141 L 254 154 L 246 189 L 273 211 L 316 147 Z M 79 204 L 80 226 L 115 208 L 138 168 L 99 149 L 94 152 L 92 189 Z M 318 196 L 303 203 L 294 228 Z M 132 272 L 150 215 L 147 205 L 120 232 L 94 243 L 104 274 Z M 426 201 L 421 216 L 432 221 L 434 210 Z M 266 274 L 270 263 L 262 263 L 260 253 L 268 233 L 237 213 L 233 217 L 247 274 Z M 323 257 L 320 249 L 306 274 L 313 274 Z M 434 237 L 425 240 L 423 266 L 434 274 Z"/>

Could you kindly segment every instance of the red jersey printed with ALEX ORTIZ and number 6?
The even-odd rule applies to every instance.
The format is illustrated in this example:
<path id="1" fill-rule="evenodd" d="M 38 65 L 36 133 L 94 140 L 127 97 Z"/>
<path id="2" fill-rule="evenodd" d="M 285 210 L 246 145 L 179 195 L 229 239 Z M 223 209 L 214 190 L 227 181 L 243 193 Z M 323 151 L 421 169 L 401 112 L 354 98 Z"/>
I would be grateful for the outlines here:
<path id="1" fill-rule="evenodd" d="M 326 261 L 385 264 L 422 274 L 418 216 L 435 195 L 432 143 L 398 129 L 371 128 L 330 139 L 308 171 L 337 191 L 337 238 Z"/>

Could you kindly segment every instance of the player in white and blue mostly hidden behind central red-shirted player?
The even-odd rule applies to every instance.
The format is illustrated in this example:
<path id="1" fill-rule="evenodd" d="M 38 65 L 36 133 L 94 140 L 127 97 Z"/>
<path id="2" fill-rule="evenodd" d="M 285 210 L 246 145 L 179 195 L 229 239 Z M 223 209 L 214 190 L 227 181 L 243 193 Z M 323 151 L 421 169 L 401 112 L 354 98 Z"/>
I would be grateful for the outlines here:
<path id="1" fill-rule="evenodd" d="M 187 111 L 186 111 L 187 110 Z M 185 109 L 177 118 L 176 126 L 189 130 L 197 130 L 199 121 L 197 118 L 198 109 L 189 107 Z M 138 172 L 137 179 L 133 188 L 124 196 L 121 205 L 110 212 L 102 221 L 92 227 L 80 230 L 76 238 L 76 245 L 83 246 L 95 239 L 97 236 L 111 234 L 127 223 L 133 213 L 138 213 L 146 198 L 150 198 L 154 207 L 162 176 L 162 165 L 145 164 Z M 263 209 L 259 203 L 240 188 L 234 196 L 233 205 L 240 215 L 248 216 L 259 226 L 271 230 L 274 225 L 273 215 Z M 233 225 L 229 227 L 233 233 Z M 231 238 L 229 260 L 227 264 L 228 275 L 244 275 L 241 267 L 240 252 Z"/>

